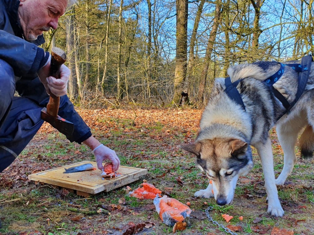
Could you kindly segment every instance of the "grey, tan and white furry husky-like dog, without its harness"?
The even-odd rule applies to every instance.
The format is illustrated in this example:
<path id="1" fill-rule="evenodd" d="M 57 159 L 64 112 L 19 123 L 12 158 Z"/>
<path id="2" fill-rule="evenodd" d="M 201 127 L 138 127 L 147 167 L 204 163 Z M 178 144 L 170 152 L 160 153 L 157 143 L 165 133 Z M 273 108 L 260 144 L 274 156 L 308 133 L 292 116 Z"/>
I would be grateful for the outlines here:
<path id="1" fill-rule="evenodd" d="M 279 68 L 277 62 L 256 62 L 228 69 L 232 82 L 242 79 L 237 90 L 245 111 L 224 92 L 224 78 L 215 80 L 195 142 L 181 146 L 197 156 L 198 167 L 213 182 L 207 189 L 196 192 L 195 196 L 215 197 L 217 204 L 229 204 L 239 176 L 247 174 L 253 167 L 252 145 L 257 149 L 263 167 L 268 212 L 275 217 L 283 216 L 276 184 L 284 184 L 296 163 L 295 144 L 302 129 L 305 128 L 299 141 L 301 153 L 312 157 L 314 150 L 314 63 L 311 64 L 305 91 L 288 114 L 284 114 L 285 108 L 274 97 L 271 88 L 262 82 Z M 284 69 L 284 74 L 273 86 L 292 103 L 298 87 L 298 73 L 288 66 Z M 275 124 L 284 151 L 284 167 L 276 180 L 268 133 Z"/>

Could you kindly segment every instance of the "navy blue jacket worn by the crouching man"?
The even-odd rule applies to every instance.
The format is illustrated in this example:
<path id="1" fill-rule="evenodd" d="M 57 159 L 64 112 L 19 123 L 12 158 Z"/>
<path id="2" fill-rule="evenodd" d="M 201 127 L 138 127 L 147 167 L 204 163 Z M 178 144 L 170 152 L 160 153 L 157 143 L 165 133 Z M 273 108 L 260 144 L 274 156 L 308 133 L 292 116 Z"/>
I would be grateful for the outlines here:
<path id="1" fill-rule="evenodd" d="M 19 3 L 19 0 L 0 0 L 0 59 L 12 66 L 19 95 L 45 107 L 49 96 L 37 76 L 37 71 L 48 59 L 48 56 L 45 57 L 44 50 L 38 47 L 45 40 L 43 35 L 35 41 L 23 39 L 23 31 L 19 27 L 17 17 Z M 74 110 L 67 96 L 61 97 L 58 114 L 74 123 L 72 136 L 67 136 L 71 142 L 81 144 L 92 135 L 90 128 Z"/>

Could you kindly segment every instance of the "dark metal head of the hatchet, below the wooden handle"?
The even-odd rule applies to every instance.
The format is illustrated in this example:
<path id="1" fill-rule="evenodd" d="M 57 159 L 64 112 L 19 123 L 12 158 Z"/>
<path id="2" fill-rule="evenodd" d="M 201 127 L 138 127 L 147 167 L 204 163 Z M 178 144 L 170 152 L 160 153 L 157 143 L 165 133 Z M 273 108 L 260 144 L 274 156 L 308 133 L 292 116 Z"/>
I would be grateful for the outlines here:
<path id="1" fill-rule="evenodd" d="M 72 135 L 74 131 L 74 124 L 61 118 L 59 115 L 53 117 L 47 113 L 47 109 L 41 110 L 41 119 L 49 123 L 52 127 L 56 128 L 62 134 L 66 136 Z"/>

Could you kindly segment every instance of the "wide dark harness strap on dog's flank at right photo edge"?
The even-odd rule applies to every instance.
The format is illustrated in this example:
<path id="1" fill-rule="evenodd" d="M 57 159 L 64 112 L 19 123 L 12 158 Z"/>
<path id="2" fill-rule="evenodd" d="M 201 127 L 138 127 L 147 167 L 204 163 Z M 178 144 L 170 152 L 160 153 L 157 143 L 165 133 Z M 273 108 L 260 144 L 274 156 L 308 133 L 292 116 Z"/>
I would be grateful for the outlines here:
<path id="1" fill-rule="evenodd" d="M 295 103 L 300 99 L 303 91 L 305 90 L 307 80 L 309 79 L 310 76 L 310 70 L 311 70 L 311 62 L 313 61 L 312 55 L 306 55 L 303 56 L 301 59 L 301 66 L 302 66 L 302 72 L 299 73 L 298 77 L 298 90 L 295 95 L 295 100 L 292 102 L 290 107 L 288 108 L 287 112 L 291 110 L 291 108 L 295 105 Z M 299 66 L 298 66 L 299 67 Z"/>

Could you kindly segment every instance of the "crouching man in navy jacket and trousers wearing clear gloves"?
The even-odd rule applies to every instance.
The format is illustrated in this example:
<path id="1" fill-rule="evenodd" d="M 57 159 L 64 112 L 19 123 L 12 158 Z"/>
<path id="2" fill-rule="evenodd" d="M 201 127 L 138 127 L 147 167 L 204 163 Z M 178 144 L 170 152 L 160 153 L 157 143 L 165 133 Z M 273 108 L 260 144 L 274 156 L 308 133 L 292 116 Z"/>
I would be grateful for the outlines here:
<path id="1" fill-rule="evenodd" d="M 93 150 L 100 170 L 104 160 L 113 163 L 113 170 L 119 168 L 115 151 L 92 136 L 69 101 L 70 70 L 62 65 L 60 79 L 49 76 L 49 53 L 38 47 L 45 42 L 42 33 L 57 28 L 67 4 L 68 0 L 0 0 L 0 172 L 43 124 L 41 109 L 51 93 L 60 96 L 58 114 L 74 123 L 74 132 L 67 138 Z M 20 97 L 14 97 L 15 91 Z"/>

